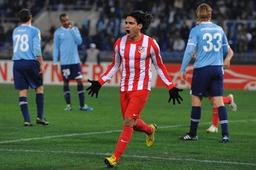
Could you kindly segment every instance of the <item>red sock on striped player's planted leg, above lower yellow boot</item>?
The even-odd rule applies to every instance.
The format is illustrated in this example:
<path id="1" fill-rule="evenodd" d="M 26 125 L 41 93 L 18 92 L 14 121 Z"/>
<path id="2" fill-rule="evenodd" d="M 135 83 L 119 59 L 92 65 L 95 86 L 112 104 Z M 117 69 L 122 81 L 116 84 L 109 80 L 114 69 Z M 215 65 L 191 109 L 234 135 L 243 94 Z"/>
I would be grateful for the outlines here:
<path id="1" fill-rule="evenodd" d="M 122 129 L 122 133 L 119 137 L 119 140 L 116 145 L 116 150 L 114 152 L 114 156 L 116 156 L 116 161 L 119 161 L 119 158 L 121 157 L 124 150 L 126 150 L 127 145 L 130 142 L 130 139 L 132 139 L 132 132 L 134 129 L 130 126 L 124 126 Z"/>

